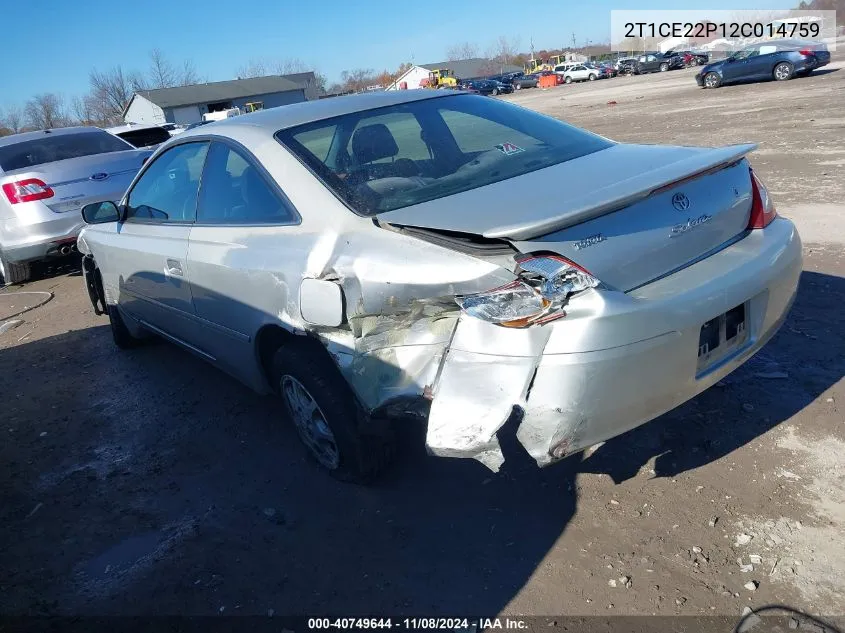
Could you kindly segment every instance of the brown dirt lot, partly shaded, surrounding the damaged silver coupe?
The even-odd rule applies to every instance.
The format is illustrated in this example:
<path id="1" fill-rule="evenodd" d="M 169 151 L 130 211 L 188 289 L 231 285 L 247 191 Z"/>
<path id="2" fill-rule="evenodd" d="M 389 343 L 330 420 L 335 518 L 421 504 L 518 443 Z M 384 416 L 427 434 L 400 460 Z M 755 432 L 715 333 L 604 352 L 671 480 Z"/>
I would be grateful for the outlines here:
<path id="1" fill-rule="evenodd" d="M 404 427 L 384 482 L 337 483 L 273 398 L 168 344 L 118 351 L 78 272 L 5 289 L 0 322 L 41 296 L 10 293 L 54 296 L 0 334 L 0 613 L 845 614 L 834 59 L 783 84 L 702 91 L 677 71 L 508 97 L 620 141 L 757 142 L 805 242 L 796 305 L 753 361 L 542 471 L 512 429 L 493 475 Z"/>

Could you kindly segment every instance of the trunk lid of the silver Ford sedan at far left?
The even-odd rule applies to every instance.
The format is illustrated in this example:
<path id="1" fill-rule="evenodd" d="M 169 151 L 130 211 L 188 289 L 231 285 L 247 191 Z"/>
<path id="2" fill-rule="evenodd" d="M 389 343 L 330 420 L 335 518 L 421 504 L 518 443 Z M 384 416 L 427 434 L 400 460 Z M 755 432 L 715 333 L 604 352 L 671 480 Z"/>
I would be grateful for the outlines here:
<path id="1" fill-rule="evenodd" d="M 37 178 L 53 190 L 41 202 L 55 213 L 78 212 L 91 202 L 120 200 L 150 155 L 150 150 L 127 150 L 53 161 L 0 172 L 0 184 Z"/>

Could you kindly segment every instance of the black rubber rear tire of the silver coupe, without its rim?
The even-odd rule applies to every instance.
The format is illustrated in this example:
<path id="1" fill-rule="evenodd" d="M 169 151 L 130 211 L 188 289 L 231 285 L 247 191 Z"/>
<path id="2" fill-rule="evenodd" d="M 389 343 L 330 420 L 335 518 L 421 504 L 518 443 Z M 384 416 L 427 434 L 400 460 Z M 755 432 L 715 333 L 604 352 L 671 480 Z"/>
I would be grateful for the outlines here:
<path id="1" fill-rule="evenodd" d="M 323 463 L 320 456 L 303 439 L 309 455 L 333 477 L 341 481 L 367 484 L 377 479 L 393 457 L 393 436 L 389 429 L 370 424 L 346 380 L 322 350 L 314 344 L 291 342 L 273 356 L 273 386 L 281 396 L 288 417 L 294 412 L 282 388 L 286 377 L 295 379 L 313 398 L 331 430 L 339 454 L 335 467 Z"/>

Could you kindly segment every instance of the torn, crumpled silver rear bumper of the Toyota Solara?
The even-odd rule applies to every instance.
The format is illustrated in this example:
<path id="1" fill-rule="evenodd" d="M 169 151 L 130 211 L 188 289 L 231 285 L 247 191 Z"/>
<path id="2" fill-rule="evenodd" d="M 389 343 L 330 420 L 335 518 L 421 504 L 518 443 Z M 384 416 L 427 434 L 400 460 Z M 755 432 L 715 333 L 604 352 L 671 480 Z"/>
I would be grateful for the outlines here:
<path id="1" fill-rule="evenodd" d="M 800 238 L 779 218 L 627 294 L 589 291 L 547 326 L 511 330 L 462 317 L 433 388 L 427 446 L 497 470 L 496 433 L 518 406 L 517 438 L 544 466 L 643 424 L 756 353 L 785 319 L 801 266 Z M 746 333 L 702 365 L 702 325 L 737 306 Z"/>

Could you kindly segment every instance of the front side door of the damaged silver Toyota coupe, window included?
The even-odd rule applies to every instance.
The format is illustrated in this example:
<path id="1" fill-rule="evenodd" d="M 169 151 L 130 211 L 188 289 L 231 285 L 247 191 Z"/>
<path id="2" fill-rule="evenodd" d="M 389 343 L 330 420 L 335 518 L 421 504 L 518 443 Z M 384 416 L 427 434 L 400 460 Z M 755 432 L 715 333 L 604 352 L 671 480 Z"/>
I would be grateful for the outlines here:
<path id="1" fill-rule="evenodd" d="M 109 268 L 120 306 L 151 329 L 187 340 L 194 314 L 188 237 L 207 142 L 175 145 L 157 156 L 124 196 Z"/>

